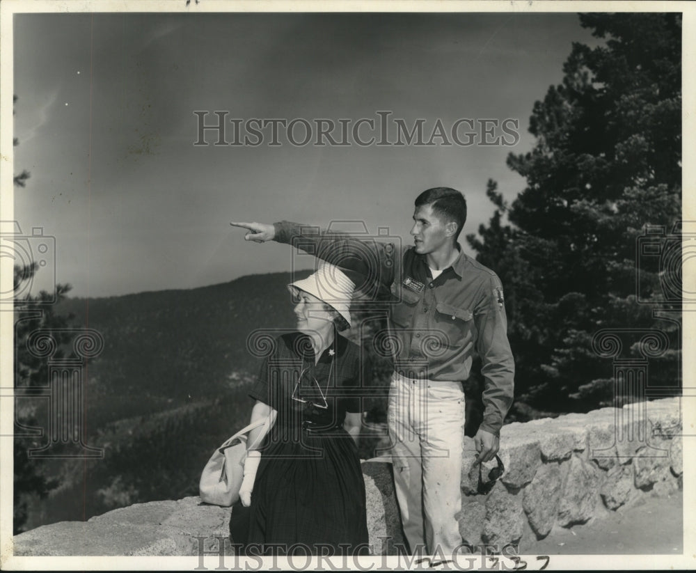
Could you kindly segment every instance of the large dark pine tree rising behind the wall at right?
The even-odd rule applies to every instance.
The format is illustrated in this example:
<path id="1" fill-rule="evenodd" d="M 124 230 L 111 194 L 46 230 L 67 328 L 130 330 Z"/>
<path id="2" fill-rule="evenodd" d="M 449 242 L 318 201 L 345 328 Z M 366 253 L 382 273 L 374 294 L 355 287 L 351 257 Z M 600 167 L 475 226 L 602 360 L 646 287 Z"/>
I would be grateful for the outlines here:
<path id="1" fill-rule="evenodd" d="M 586 14 L 580 23 L 606 45 L 574 43 L 562 84 L 535 103 L 534 148 L 507 159 L 525 189 L 507 205 L 489 182 L 496 210 L 480 237 L 467 237 L 507 291 L 520 418 L 529 406 L 614 403 L 612 363 L 592 347 L 600 329 L 663 331 L 670 350 L 649 384 L 679 382 L 678 327 L 640 302 L 678 311 L 664 287 L 681 267 L 641 260 L 637 246 L 648 225 L 669 233 L 681 214 L 681 15 Z"/>

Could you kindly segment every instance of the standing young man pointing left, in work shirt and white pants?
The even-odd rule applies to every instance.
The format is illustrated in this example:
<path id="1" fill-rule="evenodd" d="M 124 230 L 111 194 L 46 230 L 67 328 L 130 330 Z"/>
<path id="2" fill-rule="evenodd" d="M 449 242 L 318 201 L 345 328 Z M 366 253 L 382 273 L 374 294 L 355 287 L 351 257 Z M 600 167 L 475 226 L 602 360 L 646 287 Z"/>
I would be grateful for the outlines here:
<path id="1" fill-rule="evenodd" d="M 451 555 L 461 545 L 464 389 L 474 352 L 482 361 L 483 421 L 478 462 L 492 460 L 512 405 L 514 359 L 498 276 L 461 251 L 464 196 L 423 191 L 413 214 L 413 246 L 360 240 L 283 221 L 231 223 L 246 240 L 296 244 L 388 288 L 395 372 L 390 382 L 390 453 L 402 525 L 411 553 Z"/>

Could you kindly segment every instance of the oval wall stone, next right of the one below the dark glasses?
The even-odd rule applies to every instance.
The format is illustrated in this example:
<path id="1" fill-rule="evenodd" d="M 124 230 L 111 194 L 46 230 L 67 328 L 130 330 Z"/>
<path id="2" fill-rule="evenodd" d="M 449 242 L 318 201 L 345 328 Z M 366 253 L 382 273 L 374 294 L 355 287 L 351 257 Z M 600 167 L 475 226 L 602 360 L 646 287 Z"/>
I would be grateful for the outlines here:
<path id="1" fill-rule="evenodd" d="M 561 498 L 561 471 L 558 464 L 544 464 L 524 489 L 522 505 L 538 538 L 551 531 Z"/>

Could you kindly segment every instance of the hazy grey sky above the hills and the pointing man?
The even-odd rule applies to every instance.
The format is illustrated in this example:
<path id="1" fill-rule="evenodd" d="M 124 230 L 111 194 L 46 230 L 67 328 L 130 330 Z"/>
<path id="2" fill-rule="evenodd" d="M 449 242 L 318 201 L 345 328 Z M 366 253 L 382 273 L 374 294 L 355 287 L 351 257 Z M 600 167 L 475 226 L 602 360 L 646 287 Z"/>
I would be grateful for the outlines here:
<path id="1" fill-rule="evenodd" d="M 507 155 L 532 148 L 532 107 L 561 81 L 571 43 L 599 41 L 575 13 L 19 14 L 13 31 L 14 169 L 31 173 L 15 188 L 18 236 L 54 237 L 33 292 L 58 281 L 78 297 L 312 264 L 286 245 L 244 242 L 235 220 L 352 221 L 333 228 L 382 228 L 410 244 L 413 200 L 437 186 L 466 196 L 461 242 L 473 254 L 464 234 L 493 213 L 487 180 L 508 200 L 524 189 Z M 227 143 L 232 119 L 299 120 L 301 143 L 300 120 L 315 141 L 326 118 L 345 120 L 348 144 L 292 145 L 281 127 L 277 146 L 269 129 L 256 146 L 216 146 L 211 131 L 196 146 L 194 111 L 209 112 L 206 125 L 228 112 Z M 422 120 L 425 142 L 439 120 L 452 145 L 378 146 L 378 112 L 386 141 L 397 140 L 395 120 Z M 357 132 L 377 136 L 372 145 L 351 138 L 361 118 L 375 122 Z M 472 145 L 452 141 L 459 119 L 475 121 Z M 498 122 L 489 136 L 482 119 Z M 507 119 L 516 136 L 502 131 Z M 470 124 L 459 127 L 466 143 Z"/>

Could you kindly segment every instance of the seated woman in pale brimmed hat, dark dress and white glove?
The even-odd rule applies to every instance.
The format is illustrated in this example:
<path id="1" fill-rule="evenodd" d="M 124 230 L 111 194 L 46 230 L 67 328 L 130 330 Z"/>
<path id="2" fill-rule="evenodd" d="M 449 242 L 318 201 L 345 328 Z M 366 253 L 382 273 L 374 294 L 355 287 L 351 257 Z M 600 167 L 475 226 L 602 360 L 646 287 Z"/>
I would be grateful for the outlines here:
<path id="1" fill-rule="evenodd" d="M 351 324 L 354 283 L 324 264 L 288 288 L 298 301 L 297 331 L 276 338 L 249 393 L 252 421 L 276 419 L 260 448 L 247 452 L 230 536 L 253 554 L 367 554 L 355 444 L 366 368 L 358 345 L 338 333 Z"/>

